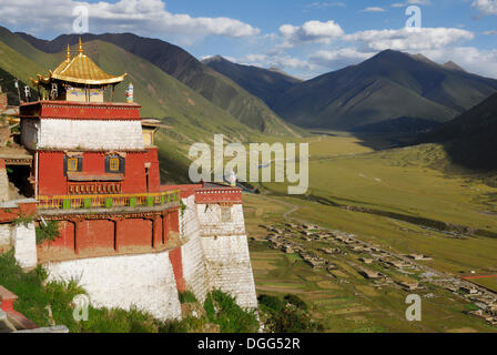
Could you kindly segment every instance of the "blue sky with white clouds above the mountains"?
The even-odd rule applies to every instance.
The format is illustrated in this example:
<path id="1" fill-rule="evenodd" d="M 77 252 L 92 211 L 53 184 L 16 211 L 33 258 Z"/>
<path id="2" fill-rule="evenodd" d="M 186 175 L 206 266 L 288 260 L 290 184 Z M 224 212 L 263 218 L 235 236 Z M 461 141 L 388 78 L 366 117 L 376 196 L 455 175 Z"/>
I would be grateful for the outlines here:
<path id="1" fill-rule="evenodd" d="M 497 0 L 0 0 L 0 26 L 42 39 L 133 32 L 302 79 L 385 49 L 497 79 Z"/>

